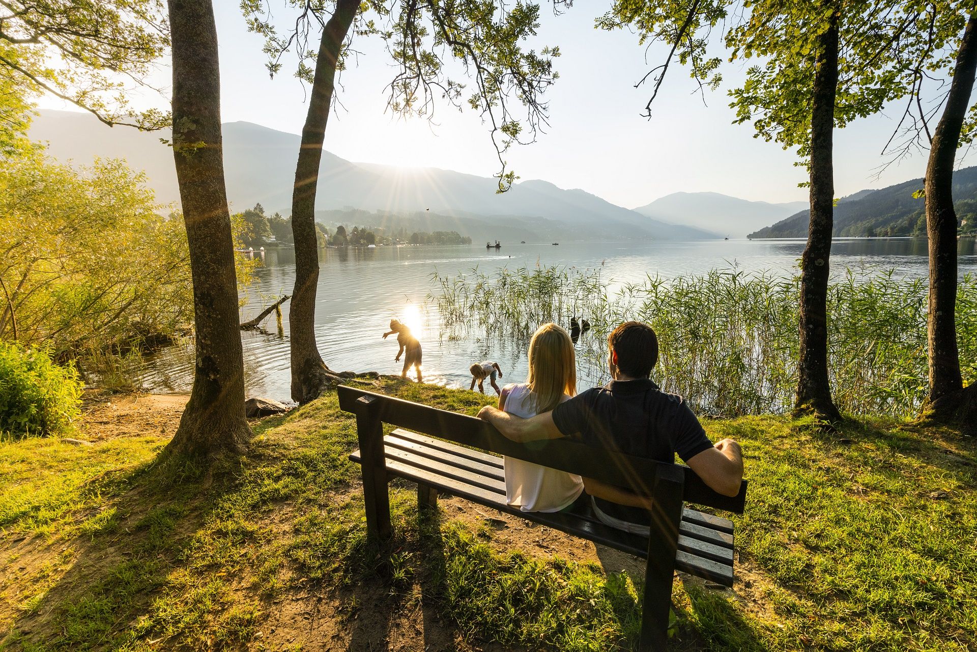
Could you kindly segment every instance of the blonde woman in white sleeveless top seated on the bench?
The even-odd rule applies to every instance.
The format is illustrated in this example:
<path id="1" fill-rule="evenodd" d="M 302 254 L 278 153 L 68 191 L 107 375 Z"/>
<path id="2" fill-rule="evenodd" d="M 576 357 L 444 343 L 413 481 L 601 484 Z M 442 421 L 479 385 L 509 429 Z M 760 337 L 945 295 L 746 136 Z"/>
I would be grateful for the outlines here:
<path id="1" fill-rule="evenodd" d="M 506 385 L 498 409 L 523 418 L 550 412 L 576 394 L 573 341 L 555 324 L 539 326 L 530 341 L 530 374 L 525 383 Z M 505 498 L 522 511 L 560 511 L 583 491 L 578 475 L 505 457 Z"/>

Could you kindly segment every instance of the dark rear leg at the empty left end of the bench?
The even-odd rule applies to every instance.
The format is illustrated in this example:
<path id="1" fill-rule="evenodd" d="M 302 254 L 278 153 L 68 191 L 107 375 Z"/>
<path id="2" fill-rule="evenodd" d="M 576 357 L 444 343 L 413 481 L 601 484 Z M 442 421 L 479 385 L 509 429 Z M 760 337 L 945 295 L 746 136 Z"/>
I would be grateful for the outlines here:
<path id="1" fill-rule="evenodd" d="M 357 436 L 360 439 L 363 477 L 363 506 L 366 509 L 366 535 L 386 541 L 393 535 L 390 525 L 390 491 L 383 452 L 383 422 L 377 413 L 375 397 L 357 399 Z"/>

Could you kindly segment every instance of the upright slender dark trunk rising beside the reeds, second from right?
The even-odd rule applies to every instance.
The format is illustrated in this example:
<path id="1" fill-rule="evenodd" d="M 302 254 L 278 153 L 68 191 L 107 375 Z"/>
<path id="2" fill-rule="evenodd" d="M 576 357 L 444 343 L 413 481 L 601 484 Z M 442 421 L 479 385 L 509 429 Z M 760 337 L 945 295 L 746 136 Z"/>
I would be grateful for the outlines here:
<path id="1" fill-rule="evenodd" d="M 818 37 L 811 106 L 811 223 L 801 258 L 800 362 L 794 413 L 841 418 L 828 382 L 828 257 L 834 222 L 834 100 L 838 86 L 838 15 Z"/>

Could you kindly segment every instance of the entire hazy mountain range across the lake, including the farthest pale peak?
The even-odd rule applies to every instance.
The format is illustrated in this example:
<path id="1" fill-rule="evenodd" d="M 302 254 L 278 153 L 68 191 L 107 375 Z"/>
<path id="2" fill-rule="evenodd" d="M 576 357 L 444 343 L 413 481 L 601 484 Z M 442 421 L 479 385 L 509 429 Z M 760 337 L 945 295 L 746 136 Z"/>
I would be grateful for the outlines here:
<path id="1" fill-rule="evenodd" d="M 234 210 L 261 203 L 269 213 L 288 215 L 300 138 L 250 122 L 223 125 L 225 176 Z M 172 152 L 160 139 L 169 133 L 108 128 L 94 116 L 42 110 L 30 132 L 47 142 L 61 161 L 85 164 L 94 157 L 124 158 L 146 172 L 161 203 L 178 203 Z M 405 169 L 354 163 L 322 152 L 318 219 L 326 211 L 371 211 L 372 224 L 391 216 L 425 230 L 453 230 L 481 239 L 717 239 L 742 237 L 759 225 L 782 219 L 803 202 L 771 204 L 715 193 L 675 193 L 636 210 L 582 190 L 564 190 L 542 180 L 514 184 L 496 194 L 496 182 L 451 170 Z"/>

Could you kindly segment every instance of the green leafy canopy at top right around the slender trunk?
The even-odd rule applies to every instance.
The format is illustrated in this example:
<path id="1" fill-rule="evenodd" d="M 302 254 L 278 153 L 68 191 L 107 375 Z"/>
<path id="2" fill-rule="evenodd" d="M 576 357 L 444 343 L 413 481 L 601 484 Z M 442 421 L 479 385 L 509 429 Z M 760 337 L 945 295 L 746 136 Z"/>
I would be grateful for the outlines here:
<path id="1" fill-rule="evenodd" d="M 736 122 L 751 122 L 756 137 L 797 148 L 806 161 L 816 44 L 832 15 L 840 47 L 834 120 L 844 127 L 947 70 L 967 6 L 953 0 L 616 0 L 598 26 L 630 27 L 642 44 L 670 48 L 664 63 L 638 82 L 655 83 L 648 116 L 673 58 L 703 89 L 722 80 L 722 60 L 710 47 L 724 47 L 731 63 L 756 61 L 743 86 L 730 91 Z"/>

